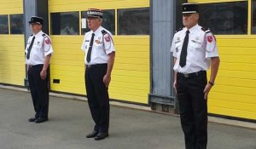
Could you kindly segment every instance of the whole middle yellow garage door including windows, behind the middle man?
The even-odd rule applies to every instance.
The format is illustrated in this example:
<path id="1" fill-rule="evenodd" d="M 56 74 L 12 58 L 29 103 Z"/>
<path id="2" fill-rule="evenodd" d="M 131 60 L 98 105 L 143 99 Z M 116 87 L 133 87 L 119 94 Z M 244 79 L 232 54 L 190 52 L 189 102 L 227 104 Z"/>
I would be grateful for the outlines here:
<path id="1" fill-rule="evenodd" d="M 116 60 L 109 87 L 110 98 L 147 104 L 149 92 L 148 31 L 125 32 L 127 28 L 129 30 L 129 24 L 118 20 L 120 17 L 118 14 L 124 15 L 123 19 L 129 13 L 130 16 L 136 14 L 139 20 L 146 21 L 143 16 L 149 14 L 148 7 L 149 0 L 49 0 L 50 37 L 55 50 L 50 66 L 51 90 L 85 94 L 84 53 L 80 49 L 84 38 L 84 26 L 86 26 L 84 25 L 86 21 L 84 11 L 97 8 L 108 12 L 109 21 L 113 20 L 112 22 L 106 20 L 106 26 L 113 29 L 116 48 Z M 128 19 L 129 17 L 126 16 L 125 20 Z M 73 22 L 79 23 L 69 26 Z"/>

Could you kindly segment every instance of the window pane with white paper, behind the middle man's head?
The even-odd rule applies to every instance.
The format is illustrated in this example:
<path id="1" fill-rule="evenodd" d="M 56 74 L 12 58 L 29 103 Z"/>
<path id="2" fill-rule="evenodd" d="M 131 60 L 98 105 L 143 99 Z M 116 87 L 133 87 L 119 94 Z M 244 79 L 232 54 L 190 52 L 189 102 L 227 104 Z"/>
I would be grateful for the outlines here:
<path id="1" fill-rule="evenodd" d="M 115 34 L 114 33 L 115 32 L 114 9 L 102 10 L 102 12 L 103 12 L 102 26 L 114 35 Z M 87 14 L 87 11 L 82 11 L 82 29 L 81 29 L 82 34 L 90 31 L 90 29 L 87 27 L 86 14 Z"/>

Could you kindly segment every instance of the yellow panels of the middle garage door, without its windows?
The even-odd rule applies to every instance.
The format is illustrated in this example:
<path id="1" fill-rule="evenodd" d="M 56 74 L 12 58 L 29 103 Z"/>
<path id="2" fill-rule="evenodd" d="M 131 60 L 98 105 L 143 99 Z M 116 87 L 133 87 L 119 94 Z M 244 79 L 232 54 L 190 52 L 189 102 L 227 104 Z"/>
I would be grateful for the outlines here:
<path id="1" fill-rule="evenodd" d="M 53 12 L 97 9 L 125 9 L 149 7 L 149 0 L 49 0 L 49 14 Z M 116 15 L 117 16 L 117 15 Z M 117 18 L 116 18 L 117 20 Z M 117 28 L 117 26 L 116 26 Z M 84 95 L 84 53 L 81 36 L 51 35 L 55 54 L 51 60 L 51 90 Z M 148 103 L 149 92 L 149 36 L 113 36 L 116 59 L 110 98 Z M 60 79 L 60 83 L 53 83 Z"/>

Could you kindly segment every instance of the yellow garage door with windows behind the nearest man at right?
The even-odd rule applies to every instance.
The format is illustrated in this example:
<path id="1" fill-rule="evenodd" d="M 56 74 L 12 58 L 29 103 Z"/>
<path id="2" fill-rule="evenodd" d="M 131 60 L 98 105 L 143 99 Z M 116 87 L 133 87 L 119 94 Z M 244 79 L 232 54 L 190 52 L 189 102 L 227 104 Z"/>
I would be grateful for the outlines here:
<path id="1" fill-rule="evenodd" d="M 209 112 L 255 120 L 256 32 L 252 31 L 251 23 L 256 18 L 251 15 L 251 7 L 253 2 L 255 14 L 256 2 L 251 0 L 189 0 L 189 2 L 201 3 L 202 7 L 205 7 L 201 11 L 207 12 L 207 8 L 212 8 L 212 12 L 207 14 L 206 18 L 218 16 L 218 18 L 215 17 L 218 21 L 214 22 L 215 19 L 212 19 L 213 21 L 208 22 L 213 25 L 214 32 L 218 32 L 216 37 L 221 60 L 216 86 L 212 88 L 208 100 Z M 234 9 L 226 6 L 232 6 Z M 215 11 L 213 11 L 214 8 Z M 216 14 L 220 9 L 222 10 L 219 12 L 222 14 Z M 207 21 L 207 19 L 201 19 Z M 244 23 L 241 24 L 241 22 Z"/>

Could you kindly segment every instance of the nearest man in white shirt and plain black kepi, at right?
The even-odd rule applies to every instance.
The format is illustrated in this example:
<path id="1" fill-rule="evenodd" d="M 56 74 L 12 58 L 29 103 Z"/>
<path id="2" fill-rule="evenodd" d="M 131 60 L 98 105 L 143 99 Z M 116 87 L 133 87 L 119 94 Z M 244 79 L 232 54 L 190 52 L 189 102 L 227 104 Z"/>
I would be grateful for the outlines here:
<path id="1" fill-rule="evenodd" d="M 198 3 L 183 3 L 184 28 L 175 33 L 171 48 L 186 149 L 207 148 L 207 96 L 219 66 L 216 39 L 198 25 L 198 19 Z"/>

